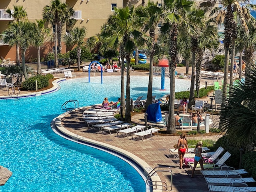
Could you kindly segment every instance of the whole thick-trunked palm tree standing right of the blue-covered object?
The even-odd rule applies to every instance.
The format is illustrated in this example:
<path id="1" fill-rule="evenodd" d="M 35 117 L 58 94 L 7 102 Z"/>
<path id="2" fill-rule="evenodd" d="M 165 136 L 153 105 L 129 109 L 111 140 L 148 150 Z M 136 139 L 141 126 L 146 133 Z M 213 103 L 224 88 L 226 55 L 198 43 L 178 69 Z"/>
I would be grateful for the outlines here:
<path id="1" fill-rule="evenodd" d="M 174 98 L 175 98 L 175 63 L 178 53 L 177 37 L 179 28 L 187 23 L 188 13 L 194 5 L 192 0 L 164 0 L 164 24 L 160 28 L 160 34 L 168 39 L 169 46 L 169 72 L 170 72 L 170 106 L 167 133 L 176 132 L 174 121 Z M 191 32 L 191 29 L 188 30 Z"/>

